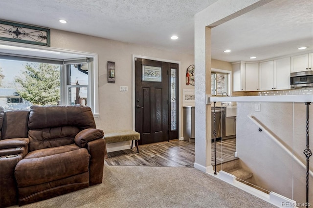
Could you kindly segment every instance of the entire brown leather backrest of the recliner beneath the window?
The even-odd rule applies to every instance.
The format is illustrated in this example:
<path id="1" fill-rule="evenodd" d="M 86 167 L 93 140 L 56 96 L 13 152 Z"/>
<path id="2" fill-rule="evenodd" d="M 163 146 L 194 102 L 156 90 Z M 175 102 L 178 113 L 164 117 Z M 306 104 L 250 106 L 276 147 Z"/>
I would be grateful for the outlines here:
<path id="1" fill-rule="evenodd" d="M 30 107 L 29 151 L 74 143 L 78 132 L 96 128 L 90 107 L 58 105 Z"/>

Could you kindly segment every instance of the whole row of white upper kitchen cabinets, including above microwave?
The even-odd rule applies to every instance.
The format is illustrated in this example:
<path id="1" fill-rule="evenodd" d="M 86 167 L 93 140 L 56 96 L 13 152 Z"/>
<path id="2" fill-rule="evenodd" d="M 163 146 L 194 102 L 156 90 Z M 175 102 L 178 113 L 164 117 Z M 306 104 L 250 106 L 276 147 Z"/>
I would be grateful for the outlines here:
<path id="1" fill-rule="evenodd" d="M 233 91 L 290 89 L 290 73 L 313 70 L 313 53 L 259 63 L 233 64 Z"/>

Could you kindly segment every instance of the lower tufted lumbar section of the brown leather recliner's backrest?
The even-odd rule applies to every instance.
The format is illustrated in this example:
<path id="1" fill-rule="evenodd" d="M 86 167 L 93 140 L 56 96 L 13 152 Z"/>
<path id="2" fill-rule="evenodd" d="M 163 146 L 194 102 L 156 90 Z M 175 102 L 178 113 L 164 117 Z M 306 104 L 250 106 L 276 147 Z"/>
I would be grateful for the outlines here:
<path id="1" fill-rule="evenodd" d="M 76 126 L 29 130 L 29 151 L 73 144 L 74 138 L 79 131 Z"/>

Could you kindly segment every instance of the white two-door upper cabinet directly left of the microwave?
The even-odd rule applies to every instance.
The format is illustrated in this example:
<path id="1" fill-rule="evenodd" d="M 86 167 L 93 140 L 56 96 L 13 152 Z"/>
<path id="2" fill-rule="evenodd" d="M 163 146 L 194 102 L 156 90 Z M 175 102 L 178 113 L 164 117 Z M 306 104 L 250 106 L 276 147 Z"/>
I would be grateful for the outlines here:
<path id="1" fill-rule="evenodd" d="M 260 90 L 290 89 L 291 58 L 277 59 L 259 64 Z"/>

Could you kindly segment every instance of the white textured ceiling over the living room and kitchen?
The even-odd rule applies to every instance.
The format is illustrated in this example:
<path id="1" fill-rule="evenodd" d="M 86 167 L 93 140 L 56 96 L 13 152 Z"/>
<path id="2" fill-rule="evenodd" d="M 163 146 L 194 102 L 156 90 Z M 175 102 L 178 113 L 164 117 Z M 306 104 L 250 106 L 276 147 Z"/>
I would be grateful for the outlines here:
<path id="1" fill-rule="evenodd" d="M 193 54 L 194 15 L 216 1 L 0 0 L 0 19 Z M 273 0 L 212 29 L 212 58 L 228 62 L 293 54 L 302 45 L 313 49 L 313 0 Z"/>

